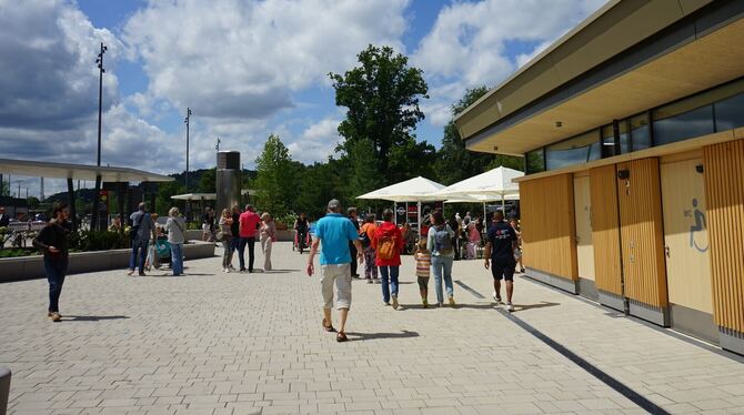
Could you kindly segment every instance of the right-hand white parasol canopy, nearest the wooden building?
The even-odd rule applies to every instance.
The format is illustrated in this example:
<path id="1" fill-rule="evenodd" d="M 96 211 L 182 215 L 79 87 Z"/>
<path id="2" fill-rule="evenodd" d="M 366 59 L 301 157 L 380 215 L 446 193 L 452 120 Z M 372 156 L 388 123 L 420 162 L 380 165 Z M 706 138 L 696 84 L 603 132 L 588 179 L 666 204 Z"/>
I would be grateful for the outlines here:
<path id="1" fill-rule="evenodd" d="M 519 184 L 512 183 L 512 179 L 523 175 L 524 173 L 519 170 L 501 166 L 446 186 L 432 196 L 450 199 L 460 195 L 482 195 L 499 196 L 501 200 L 501 196 L 520 193 Z"/>

